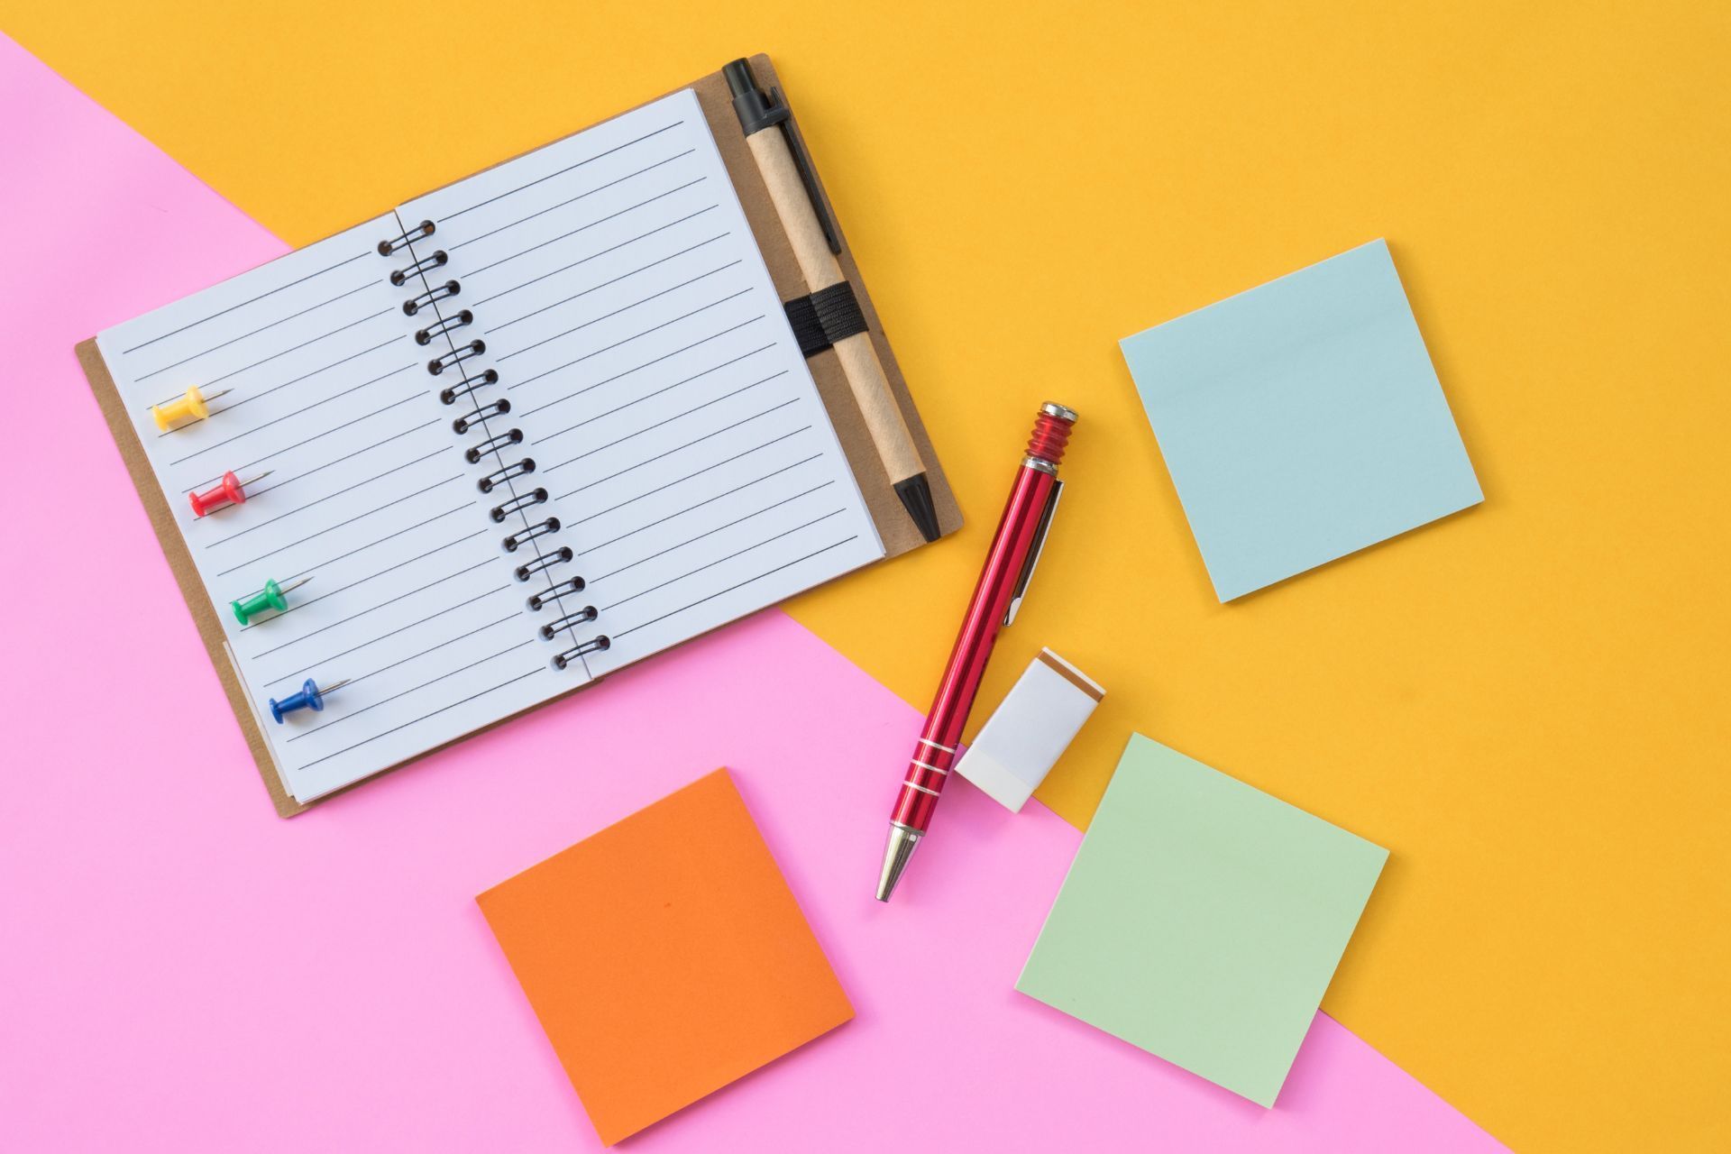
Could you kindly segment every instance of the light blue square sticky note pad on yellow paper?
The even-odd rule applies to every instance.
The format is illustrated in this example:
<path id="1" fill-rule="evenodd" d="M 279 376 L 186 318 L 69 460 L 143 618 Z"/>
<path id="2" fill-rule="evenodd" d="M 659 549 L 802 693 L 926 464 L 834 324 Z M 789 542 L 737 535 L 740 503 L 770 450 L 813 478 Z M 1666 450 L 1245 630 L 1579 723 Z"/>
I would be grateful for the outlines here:
<path id="1" fill-rule="evenodd" d="M 1483 500 L 1383 240 L 1120 346 L 1220 600 Z"/>

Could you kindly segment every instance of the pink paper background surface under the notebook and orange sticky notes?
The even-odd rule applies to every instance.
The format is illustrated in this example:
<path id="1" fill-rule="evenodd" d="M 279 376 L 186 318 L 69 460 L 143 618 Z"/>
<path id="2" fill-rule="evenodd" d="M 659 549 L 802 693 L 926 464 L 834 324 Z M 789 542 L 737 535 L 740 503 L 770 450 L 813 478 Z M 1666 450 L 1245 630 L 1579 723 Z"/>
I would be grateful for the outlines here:
<path id="1" fill-rule="evenodd" d="M 625 1149 L 1501 1149 L 1326 1016 L 1264 1111 L 1016 995 L 1037 805 L 874 903 L 917 716 L 781 612 L 277 820 L 73 344 L 282 244 L 3 36 L 0 107 L 3 1145 L 595 1147 L 473 896 L 727 765 L 859 1017 Z"/>

